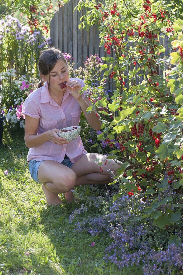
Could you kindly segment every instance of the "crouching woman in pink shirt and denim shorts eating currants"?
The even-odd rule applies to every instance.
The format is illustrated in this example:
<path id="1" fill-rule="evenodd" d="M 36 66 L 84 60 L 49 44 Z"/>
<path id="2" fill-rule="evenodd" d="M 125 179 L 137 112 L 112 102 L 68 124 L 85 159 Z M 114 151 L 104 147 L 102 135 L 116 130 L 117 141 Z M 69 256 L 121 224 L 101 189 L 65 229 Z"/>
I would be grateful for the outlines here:
<path id="1" fill-rule="evenodd" d="M 37 183 L 42 183 L 48 204 L 62 204 L 59 193 L 65 193 L 71 203 L 75 186 L 110 183 L 108 171 L 116 173 L 120 162 L 106 163 L 105 155 L 87 153 L 80 136 L 69 142 L 57 135 L 61 128 L 78 125 L 81 109 L 94 130 L 100 130 L 100 117 L 94 111 L 86 114 L 92 103 L 86 93 L 80 94 L 85 84 L 79 78 L 69 78 L 61 51 L 53 47 L 42 51 L 38 68 L 38 89 L 26 98 L 22 108 L 25 144 L 30 148 L 29 171 Z"/>

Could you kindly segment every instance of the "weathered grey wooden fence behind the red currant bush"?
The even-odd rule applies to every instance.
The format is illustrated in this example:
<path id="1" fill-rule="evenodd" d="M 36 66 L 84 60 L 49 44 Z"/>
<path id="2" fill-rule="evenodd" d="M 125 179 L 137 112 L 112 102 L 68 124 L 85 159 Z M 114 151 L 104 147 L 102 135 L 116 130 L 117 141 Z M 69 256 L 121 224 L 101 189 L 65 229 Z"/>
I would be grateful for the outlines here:
<path id="1" fill-rule="evenodd" d="M 59 48 L 64 53 L 72 54 L 74 58 L 74 69 L 82 66 L 83 62 L 86 61 L 86 57 L 91 54 L 98 54 L 99 57 L 106 56 L 104 51 L 104 46 L 99 48 L 100 39 L 99 39 L 99 30 L 98 26 L 93 25 L 89 27 L 89 31 L 86 29 L 80 30 L 78 25 L 81 23 L 80 18 L 85 14 L 84 9 L 80 12 L 76 9 L 73 12 L 73 9 L 77 6 L 78 0 L 70 0 L 65 3 L 64 6 L 60 7 L 59 10 L 54 14 L 54 17 L 50 22 L 50 37 L 55 48 Z M 126 37 L 126 39 L 128 39 Z M 164 55 L 169 56 L 172 51 L 169 39 L 166 35 L 160 35 L 159 41 L 161 45 L 165 48 L 165 53 L 160 55 L 162 58 Z M 129 46 L 133 45 L 133 42 L 129 43 Z M 107 56 L 109 56 L 107 54 Z M 111 56 L 113 53 L 111 51 Z M 138 65 L 136 65 L 136 68 Z M 128 83 L 128 74 L 130 70 L 133 70 L 134 66 L 130 66 L 125 72 L 124 75 L 127 76 L 125 80 L 125 87 L 129 88 Z M 165 70 L 168 69 L 168 65 L 165 64 L 164 70 L 159 69 L 160 74 L 165 75 Z M 135 83 L 138 85 L 144 80 L 144 75 L 142 71 L 139 71 L 135 75 Z M 141 75 L 141 76 L 140 76 Z M 113 81 L 109 79 L 109 89 L 113 89 Z"/>

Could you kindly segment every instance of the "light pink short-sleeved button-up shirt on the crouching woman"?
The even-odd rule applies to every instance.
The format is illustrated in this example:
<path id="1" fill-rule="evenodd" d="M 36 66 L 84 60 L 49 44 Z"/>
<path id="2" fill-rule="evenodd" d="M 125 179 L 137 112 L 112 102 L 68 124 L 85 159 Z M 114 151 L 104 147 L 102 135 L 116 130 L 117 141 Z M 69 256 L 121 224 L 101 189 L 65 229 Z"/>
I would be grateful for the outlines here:
<path id="1" fill-rule="evenodd" d="M 76 79 L 83 88 L 84 81 L 80 78 Z M 62 104 L 59 106 L 48 92 L 48 83 L 45 86 L 33 91 L 23 103 L 22 111 L 24 115 L 39 119 L 37 135 L 44 133 L 53 128 L 62 129 L 78 125 L 80 122 L 81 107 L 77 100 L 71 95 L 69 89 L 65 90 Z M 82 94 L 85 98 L 86 93 Z M 74 163 L 82 155 L 86 154 L 81 137 L 70 141 L 68 144 L 59 145 L 49 140 L 42 145 L 29 149 L 27 161 L 30 160 L 54 160 L 61 163 L 65 154 L 70 161 Z"/>

